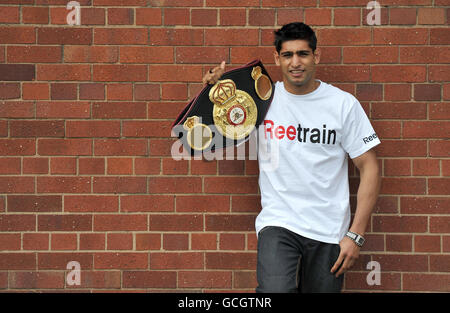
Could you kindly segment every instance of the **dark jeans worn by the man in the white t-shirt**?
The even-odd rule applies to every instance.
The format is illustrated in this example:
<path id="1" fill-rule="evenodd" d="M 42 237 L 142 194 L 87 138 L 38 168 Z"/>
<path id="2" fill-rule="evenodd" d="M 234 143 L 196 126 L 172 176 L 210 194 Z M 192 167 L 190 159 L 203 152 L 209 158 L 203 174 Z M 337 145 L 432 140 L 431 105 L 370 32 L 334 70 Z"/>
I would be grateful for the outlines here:
<path id="1" fill-rule="evenodd" d="M 258 234 L 256 292 L 340 292 L 343 275 L 330 273 L 339 251 L 338 244 L 264 227 Z"/>

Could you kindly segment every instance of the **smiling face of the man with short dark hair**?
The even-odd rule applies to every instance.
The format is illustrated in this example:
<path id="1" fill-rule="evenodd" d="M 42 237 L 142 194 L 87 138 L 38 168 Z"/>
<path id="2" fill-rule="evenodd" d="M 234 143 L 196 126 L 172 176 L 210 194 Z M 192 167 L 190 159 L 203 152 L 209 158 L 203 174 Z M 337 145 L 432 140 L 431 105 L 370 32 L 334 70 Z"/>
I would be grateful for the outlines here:
<path id="1" fill-rule="evenodd" d="M 280 53 L 275 51 L 274 55 L 287 91 L 303 93 L 314 89 L 316 64 L 320 61 L 318 49 L 313 53 L 306 40 L 289 40 L 283 42 Z"/>

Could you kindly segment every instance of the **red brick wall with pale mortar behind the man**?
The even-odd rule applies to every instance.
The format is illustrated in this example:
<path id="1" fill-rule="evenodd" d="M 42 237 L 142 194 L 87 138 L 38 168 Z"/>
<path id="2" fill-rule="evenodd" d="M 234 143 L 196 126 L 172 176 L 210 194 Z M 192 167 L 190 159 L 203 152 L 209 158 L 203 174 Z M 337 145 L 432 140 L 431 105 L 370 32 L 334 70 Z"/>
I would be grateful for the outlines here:
<path id="1" fill-rule="evenodd" d="M 373 26 L 366 0 L 80 0 L 80 26 L 67 2 L 0 1 L 0 291 L 252 292 L 257 162 L 174 161 L 170 125 L 223 59 L 279 80 L 272 31 L 291 21 L 383 142 L 345 290 L 450 291 L 447 0 L 381 0 Z"/>

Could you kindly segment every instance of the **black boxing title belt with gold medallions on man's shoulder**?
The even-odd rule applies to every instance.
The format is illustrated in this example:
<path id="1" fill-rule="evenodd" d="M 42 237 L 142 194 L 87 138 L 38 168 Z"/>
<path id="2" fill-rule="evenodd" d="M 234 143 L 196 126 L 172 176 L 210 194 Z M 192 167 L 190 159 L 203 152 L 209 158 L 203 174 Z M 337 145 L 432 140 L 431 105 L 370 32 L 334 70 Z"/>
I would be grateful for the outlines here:
<path id="1" fill-rule="evenodd" d="M 272 86 L 260 60 L 227 71 L 188 103 L 172 131 L 191 155 L 238 145 L 264 120 Z"/>

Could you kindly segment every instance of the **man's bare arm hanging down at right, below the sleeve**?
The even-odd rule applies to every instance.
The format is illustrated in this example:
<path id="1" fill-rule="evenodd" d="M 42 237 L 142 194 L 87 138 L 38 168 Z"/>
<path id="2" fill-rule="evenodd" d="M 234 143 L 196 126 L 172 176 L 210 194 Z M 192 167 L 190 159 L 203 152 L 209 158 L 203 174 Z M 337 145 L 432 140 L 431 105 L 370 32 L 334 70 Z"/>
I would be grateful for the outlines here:
<path id="1" fill-rule="evenodd" d="M 376 153 L 373 149 L 354 158 L 353 163 L 359 170 L 360 183 L 355 216 L 349 230 L 363 236 L 380 192 L 381 175 Z M 341 252 L 336 263 L 331 268 L 331 272 L 334 273 L 340 266 L 336 277 L 353 266 L 356 259 L 358 259 L 360 250 L 360 247 L 347 236 L 341 240 L 339 245 Z"/>

